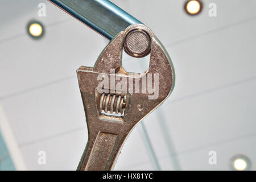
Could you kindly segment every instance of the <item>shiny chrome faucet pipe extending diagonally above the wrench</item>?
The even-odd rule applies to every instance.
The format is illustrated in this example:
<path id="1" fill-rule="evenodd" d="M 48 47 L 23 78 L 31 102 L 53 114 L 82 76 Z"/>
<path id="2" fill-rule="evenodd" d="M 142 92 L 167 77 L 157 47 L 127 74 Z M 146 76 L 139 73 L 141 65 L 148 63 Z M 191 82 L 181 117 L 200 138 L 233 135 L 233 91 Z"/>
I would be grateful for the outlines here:
<path id="1" fill-rule="evenodd" d="M 111 40 L 134 23 L 140 23 L 130 14 L 108 0 L 48 0 L 79 19 L 94 31 Z"/>

